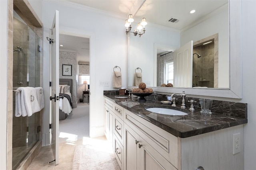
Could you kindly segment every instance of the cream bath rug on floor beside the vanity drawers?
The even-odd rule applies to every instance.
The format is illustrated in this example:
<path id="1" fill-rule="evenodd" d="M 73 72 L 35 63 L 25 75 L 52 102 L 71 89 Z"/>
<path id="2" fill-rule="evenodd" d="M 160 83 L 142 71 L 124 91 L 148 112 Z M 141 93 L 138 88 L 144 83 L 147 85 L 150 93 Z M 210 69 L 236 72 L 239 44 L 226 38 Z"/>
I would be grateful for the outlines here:
<path id="1" fill-rule="evenodd" d="M 74 152 L 73 170 L 120 170 L 114 153 L 108 148 L 97 141 L 78 145 Z"/>

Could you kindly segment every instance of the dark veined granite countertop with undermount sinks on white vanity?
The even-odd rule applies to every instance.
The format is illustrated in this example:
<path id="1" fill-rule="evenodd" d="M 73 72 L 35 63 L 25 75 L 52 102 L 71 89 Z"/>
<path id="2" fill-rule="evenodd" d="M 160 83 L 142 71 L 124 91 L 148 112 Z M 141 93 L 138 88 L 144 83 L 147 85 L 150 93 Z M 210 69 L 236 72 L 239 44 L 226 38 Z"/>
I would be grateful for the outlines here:
<path id="1" fill-rule="evenodd" d="M 171 105 L 162 104 L 160 101 L 164 97 L 157 94 L 145 97 L 147 100 L 146 102 L 138 102 L 138 100 L 132 100 L 131 98 L 115 98 L 115 95 L 104 96 L 172 135 L 181 138 L 242 125 L 248 122 L 247 104 L 245 103 L 214 100 L 211 109 L 212 114 L 204 115 L 200 113 L 200 107 L 198 105 L 199 102 L 197 102 L 197 104 L 195 103 L 196 110 L 191 112 L 189 110 L 190 103 L 186 103 L 186 109 L 180 108 L 181 105 L 179 102 L 176 102 L 177 107 L 172 107 Z M 199 99 L 196 98 L 186 98 L 186 101 L 191 99 L 199 101 Z M 181 101 L 181 99 L 179 100 Z M 145 109 L 145 107 L 152 105 L 184 111 L 188 113 L 188 115 L 163 115 L 150 112 Z"/>

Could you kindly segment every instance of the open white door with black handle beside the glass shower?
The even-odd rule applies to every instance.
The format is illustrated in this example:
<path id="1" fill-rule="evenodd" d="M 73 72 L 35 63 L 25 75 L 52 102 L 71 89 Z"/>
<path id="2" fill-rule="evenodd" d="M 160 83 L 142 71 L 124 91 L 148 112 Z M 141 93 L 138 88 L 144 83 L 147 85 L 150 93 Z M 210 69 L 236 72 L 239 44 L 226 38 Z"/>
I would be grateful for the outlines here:
<path id="1" fill-rule="evenodd" d="M 59 12 L 50 30 L 50 133 L 55 164 L 59 162 Z"/>

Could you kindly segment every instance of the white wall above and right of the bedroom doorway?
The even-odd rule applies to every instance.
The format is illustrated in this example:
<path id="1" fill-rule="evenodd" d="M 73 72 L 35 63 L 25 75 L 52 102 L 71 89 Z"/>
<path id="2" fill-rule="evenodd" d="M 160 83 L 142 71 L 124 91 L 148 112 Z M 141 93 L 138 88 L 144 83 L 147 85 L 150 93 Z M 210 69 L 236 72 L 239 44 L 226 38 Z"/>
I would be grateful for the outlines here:
<path id="1" fill-rule="evenodd" d="M 60 31 L 88 35 L 90 37 L 90 135 L 91 137 L 104 135 L 103 90 L 114 90 L 112 88 L 112 74 L 115 65 L 122 68 L 122 85 L 126 87 L 127 84 L 127 46 L 124 20 L 50 1 L 43 1 L 42 9 L 44 28 L 52 26 L 54 12 L 58 10 Z M 48 36 L 46 31 L 44 33 L 43 37 Z M 44 38 L 44 45 L 47 45 L 47 43 Z M 47 57 L 44 56 L 44 61 L 48 60 Z M 46 64 L 44 64 L 45 69 L 49 69 Z M 100 80 L 109 80 L 110 86 L 99 86 Z M 47 78 L 45 81 L 48 82 Z M 44 125 L 46 126 L 48 124 L 47 121 L 48 118 L 46 118 L 46 121 L 44 120 Z"/>

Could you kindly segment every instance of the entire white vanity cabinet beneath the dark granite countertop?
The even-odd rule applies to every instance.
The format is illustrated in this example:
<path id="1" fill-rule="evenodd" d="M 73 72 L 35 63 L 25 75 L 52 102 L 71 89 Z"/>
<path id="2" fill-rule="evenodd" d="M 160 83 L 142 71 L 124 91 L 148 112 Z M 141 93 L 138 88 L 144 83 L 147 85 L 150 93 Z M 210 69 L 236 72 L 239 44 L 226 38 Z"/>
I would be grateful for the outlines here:
<path id="1" fill-rule="evenodd" d="M 105 113 L 112 113 L 113 150 L 122 170 L 196 170 L 199 166 L 205 170 L 244 169 L 243 125 L 180 138 L 110 100 L 105 101 L 110 102 L 105 102 L 105 107 L 113 109 Z M 110 119 L 106 119 L 105 126 L 110 124 Z M 110 133 L 106 133 L 109 138 Z M 233 154 L 233 135 L 238 133 L 240 152 Z"/>

